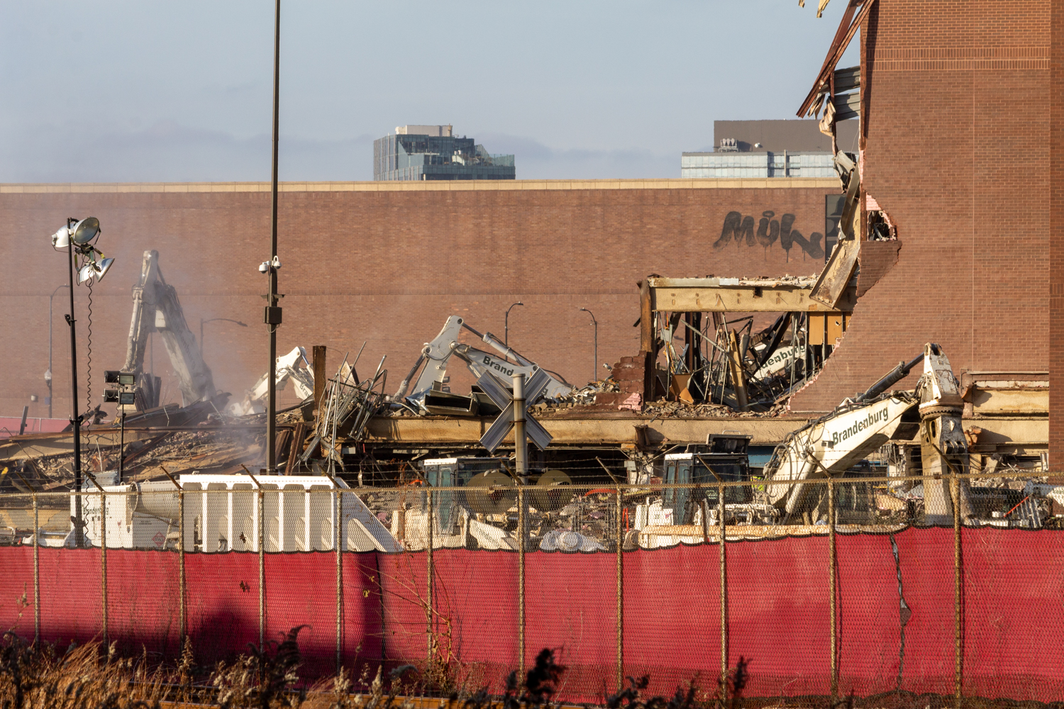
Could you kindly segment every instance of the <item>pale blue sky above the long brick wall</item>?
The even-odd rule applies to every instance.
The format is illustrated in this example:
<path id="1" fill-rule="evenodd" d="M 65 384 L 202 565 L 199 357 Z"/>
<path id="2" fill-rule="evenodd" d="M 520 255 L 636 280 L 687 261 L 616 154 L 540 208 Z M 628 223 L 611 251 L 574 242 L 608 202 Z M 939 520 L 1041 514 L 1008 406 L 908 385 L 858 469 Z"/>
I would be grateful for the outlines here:
<path id="1" fill-rule="evenodd" d="M 272 7 L 0 1 L 0 182 L 269 180 Z M 519 179 L 676 178 L 714 120 L 794 118 L 844 7 L 284 0 L 281 180 L 370 180 L 405 123 Z"/>

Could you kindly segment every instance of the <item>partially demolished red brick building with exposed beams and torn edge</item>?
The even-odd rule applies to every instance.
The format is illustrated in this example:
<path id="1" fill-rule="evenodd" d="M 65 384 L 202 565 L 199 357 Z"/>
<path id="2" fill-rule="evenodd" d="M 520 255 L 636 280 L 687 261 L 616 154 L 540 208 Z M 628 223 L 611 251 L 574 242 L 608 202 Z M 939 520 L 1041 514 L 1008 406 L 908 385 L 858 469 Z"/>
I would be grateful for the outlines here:
<path id="1" fill-rule="evenodd" d="M 972 6 L 941 19 L 960 29 L 991 12 Z M 768 444 L 786 434 L 786 417 L 831 410 L 933 341 L 969 383 L 966 415 L 982 418 L 976 427 L 983 440 L 1044 451 L 1053 347 L 1044 326 L 1049 221 L 1036 203 L 1044 190 L 1031 181 L 1047 173 L 1025 169 L 1019 181 L 1010 166 L 1048 158 L 1033 147 L 1038 140 L 1012 140 L 1014 126 L 987 112 L 997 97 L 1035 100 L 1048 90 L 1048 30 L 1007 23 L 988 54 L 930 50 L 938 45 L 926 41 L 928 33 L 938 30 L 910 19 L 895 3 L 848 3 L 821 70 L 811 77 L 801 116 L 815 114 L 829 134 L 832 115 L 860 117 L 857 152 L 838 151 L 842 179 L 283 185 L 281 231 L 292 240 L 283 244 L 289 266 L 282 350 L 323 343 L 335 362 L 365 341 L 370 361 L 387 357 L 395 383 L 396 368 L 406 369 L 444 318 L 495 322 L 498 330 L 506 306 L 520 300 L 526 306 L 515 310 L 509 339 L 580 389 L 587 376 L 578 373 L 586 372 L 594 349 L 578 308 L 588 307 L 598 313 L 603 353 L 595 371 L 601 377 L 603 364 L 617 362 L 615 376 L 583 398 L 591 408 L 573 402 L 551 412 L 562 439 L 694 440 L 751 426 Z M 838 67 L 854 37 L 860 66 Z M 1048 132 L 1048 116 L 1032 120 L 1027 137 Z M 977 149 L 991 144 L 1010 148 L 994 155 Z M 254 261 L 247 254 L 264 227 L 266 200 L 259 184 L 0 186 L 0 213 L 27 232 L 47 232 L 59 210 L 90 208 L 133 253 L 142 246 L 163 251 L 167 264 L 177 261 L 168 266 L 169 282 L 204 320 L 256 320 L 262 284 L 252 268 L 233 265 Z M 360 215 L 356 222 L 351 214 Z M 850 238 L 829 254 L 833 224 Z M 0 318 L 9 332 L 29 330 L 30 319 L 47 320 L 39 273 L 49 268 L 41 260 L 48 254 L 24 239 L 7 246 L 32 268 L 5 283 L 12 307 Z M 120 260 L 95 293 L 97 366 L 120 358 L 116 316 L 127 311 L 122 269 L 135 281 L 132 261 Z M 803 303 L 784 302 L 799 291 Z M 216 327 L 200 347 L 219 388 L 240 399 L 264 369 L 265 335 Z M 37 393 L 43 361 L 44 339 L 26 342 L 0 385 L 10 412 Z M 627 378 L 618 381 L 621 372 Z M 165 393 L 173 377 L 161 376 Z M 472 384 L 462 369 L 448 376 L 440 391 Z M 638 386 L 633 377 L 642 377 Z M 298 403 L 294 391 L 282 405 Z M 54 402 L 57 410 L 68 404 L 59 395 Z M 705 423 L 667 416 L 683 405 Z M 743 409 L 760 423 L 725 423 Z M 589 423 L 617 416 L 643 417 L 652 431 Z M 563 420 L 575 422 L 570 433 Z M 411 416 L 367 421 L 365 428 L 397 450 L 427 437 L 477 439 L 432 421 Z M 427 426 L 433 433 L 423 433 Z M 684 426 L 688 434 L 679 433 Z"/>

